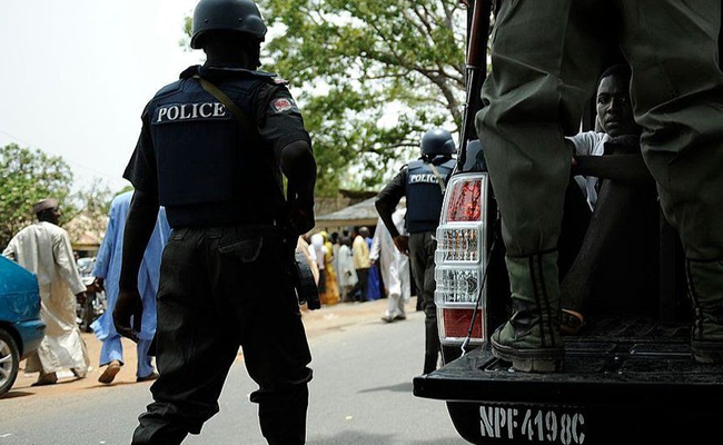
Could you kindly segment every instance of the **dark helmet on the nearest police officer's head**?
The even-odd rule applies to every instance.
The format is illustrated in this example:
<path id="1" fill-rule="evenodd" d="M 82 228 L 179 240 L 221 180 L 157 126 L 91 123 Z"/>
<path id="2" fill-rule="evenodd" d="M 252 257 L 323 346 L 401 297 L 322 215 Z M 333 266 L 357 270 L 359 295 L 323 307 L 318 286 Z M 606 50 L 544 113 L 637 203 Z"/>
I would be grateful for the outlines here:
<path id="1" fill-rule="evenodd" d="M 194 10 L 191 48 L 200 49 L 207 31 L 238 31 L 258 40 L 266 36 L 261 12 L 251 0 L 201 0 Z"/>

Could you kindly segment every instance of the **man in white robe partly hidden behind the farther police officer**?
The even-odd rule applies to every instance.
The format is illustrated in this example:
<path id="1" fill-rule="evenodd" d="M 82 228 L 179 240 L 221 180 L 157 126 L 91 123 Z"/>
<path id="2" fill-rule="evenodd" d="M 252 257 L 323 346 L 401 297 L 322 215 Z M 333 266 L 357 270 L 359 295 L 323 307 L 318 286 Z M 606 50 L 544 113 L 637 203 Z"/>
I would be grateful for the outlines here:
<path id="1" fill-rule="evenodd" d="M 392 214 L 394 225 L 400 234 L 405 233 L 405 215 L 406 209 L 404 207 L 399 207 Z M 396 248 L 392 234 L 389 234 L 382 218 L 379 218 L 377 229 L 374 233 L 369 258 L 375 263 L 379 261 L 382 280 L 387 290 L 388 304 L 382 319 L 387 323 L 406 319 L 407 314 L 404 305 L 409 300 L 412 289 L 409 258 Z"/>

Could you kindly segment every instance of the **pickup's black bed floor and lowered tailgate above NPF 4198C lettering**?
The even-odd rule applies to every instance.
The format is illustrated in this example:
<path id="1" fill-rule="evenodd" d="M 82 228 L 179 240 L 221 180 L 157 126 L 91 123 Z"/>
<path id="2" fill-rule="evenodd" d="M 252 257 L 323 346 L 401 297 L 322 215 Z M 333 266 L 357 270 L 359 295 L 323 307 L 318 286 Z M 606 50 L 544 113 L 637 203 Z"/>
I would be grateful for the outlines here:
<path id="1" fill-rule="evenodd" d="M 602 319 L 564 337 L 565 370 L 552 374 L 515 372 L 485 345 L 416 377 L 414 394 L 448 402 L 455 427 L 475 444 L 693 443 L 723 421 L 723 366 L 696 364 L 689 332 Z M 574 435 L 564 435 L 565 421 Z"/>

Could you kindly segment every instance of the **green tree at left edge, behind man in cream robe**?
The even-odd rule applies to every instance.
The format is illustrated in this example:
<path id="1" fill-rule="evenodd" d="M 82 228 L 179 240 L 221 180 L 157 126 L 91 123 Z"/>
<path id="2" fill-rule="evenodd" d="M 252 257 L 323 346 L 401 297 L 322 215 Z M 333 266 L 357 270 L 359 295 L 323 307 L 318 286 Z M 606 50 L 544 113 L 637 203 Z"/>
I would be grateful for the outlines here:
<path id="1" fill-rule="evenodd" d="M 70 166 L 61 157 L 17 144 L 0 148 L 0 248 L 34 220 L 33 204 L 48 197 L 66 202 L 72 185 Z M 75 209 L 65 205 L 63 209 L 68 220 Z"/>

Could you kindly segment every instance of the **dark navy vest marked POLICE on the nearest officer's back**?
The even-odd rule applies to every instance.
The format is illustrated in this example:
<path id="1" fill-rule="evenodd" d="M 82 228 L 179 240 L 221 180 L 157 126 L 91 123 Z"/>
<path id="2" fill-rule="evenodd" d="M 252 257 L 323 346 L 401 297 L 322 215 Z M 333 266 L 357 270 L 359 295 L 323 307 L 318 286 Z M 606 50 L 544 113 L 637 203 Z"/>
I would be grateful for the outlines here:
<path id="1" fill-rule="evenodd" d="M 215 80 L 250 122 L 259 87 L 273 75 L 244 71 Z M 158 169 L 158 196 L 171 226 L 264 222 L 283 214 L 271 147 L 264 147 L 230 110 L 186 78 L 159 91 L 148 106 Z M 274 162 L 275 165 L 275 162 Z"/>

